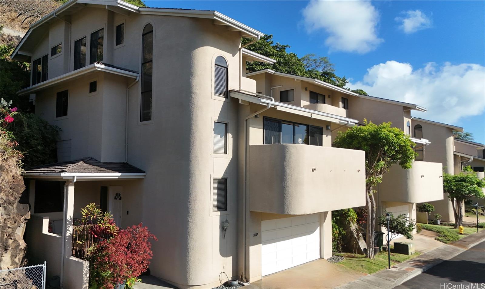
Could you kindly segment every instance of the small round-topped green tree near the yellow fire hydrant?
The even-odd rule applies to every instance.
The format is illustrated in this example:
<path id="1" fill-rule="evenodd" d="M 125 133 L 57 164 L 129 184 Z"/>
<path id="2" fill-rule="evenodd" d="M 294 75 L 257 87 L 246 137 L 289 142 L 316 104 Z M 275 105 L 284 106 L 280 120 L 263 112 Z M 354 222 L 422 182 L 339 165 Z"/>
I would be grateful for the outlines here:
<path id="1" fill-rule="evenodd" d="M 448 194 L 453 206 L 454 228 L 463 225 L 462 207 L 465 200 L 471 197 L 484 198 L 484 187 L 485 181 L 480 180 L 476 173 L 443 174 L 443 191 Z"/>

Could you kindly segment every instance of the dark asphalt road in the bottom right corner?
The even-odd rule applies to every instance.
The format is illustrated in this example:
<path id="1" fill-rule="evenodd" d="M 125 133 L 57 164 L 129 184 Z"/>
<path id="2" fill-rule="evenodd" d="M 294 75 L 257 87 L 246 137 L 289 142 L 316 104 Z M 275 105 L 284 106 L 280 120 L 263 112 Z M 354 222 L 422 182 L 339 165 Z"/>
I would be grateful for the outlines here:
<path id="1" fill-rule="evenodd" d="M 471 286 L 477 287 L 465 287 L 470 283 L 474 283 Z M 453 288 L 485 289 L 485 241 L 395 287 L 395 289 Z"/>

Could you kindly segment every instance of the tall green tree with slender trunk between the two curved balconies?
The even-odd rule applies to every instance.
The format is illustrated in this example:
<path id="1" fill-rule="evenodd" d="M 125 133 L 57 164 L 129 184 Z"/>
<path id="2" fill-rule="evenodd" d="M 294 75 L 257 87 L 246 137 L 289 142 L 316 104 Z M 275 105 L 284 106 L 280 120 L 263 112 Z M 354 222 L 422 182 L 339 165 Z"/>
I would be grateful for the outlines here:
<path id="1" fill-rule="evenodd" d="M 339 132 L 334 145 L 339 148 L 365 152 L 367 248 L 373 248 L 376 203 L 374 187 L 382 182 L 389 167 L 399 164 L 404 169 L 412 167 L 416 153 L 415 144 L 404 131 L 391 127 L 391 122 L 376 125 L 364 120 L 363 126 L 356 125 L 345 132 Z M 367 250 L 367 257 L 374 258 L 374 251 Z"/>

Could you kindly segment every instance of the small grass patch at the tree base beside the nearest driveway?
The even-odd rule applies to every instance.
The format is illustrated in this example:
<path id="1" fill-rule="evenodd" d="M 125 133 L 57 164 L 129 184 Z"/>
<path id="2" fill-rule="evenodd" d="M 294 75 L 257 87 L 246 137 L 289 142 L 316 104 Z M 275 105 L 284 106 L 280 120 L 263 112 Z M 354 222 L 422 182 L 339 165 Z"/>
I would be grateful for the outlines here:
<path id="1" fill-rule="evenodd" d="M 343 261 L 337 263 L 338 265 L 362 273 L 374 274 L 388 267 L 388 253 L 384 251 L 377 253 L 375 259 L 373 260 L 365 258 L 365 255 L 352 253 L 334 253 L 334 255 L 345 257 Z M 391 247 L 391 266 L 414 258 L 418 255 L 420 255 L 419 252 L 415 252 L 413 255 L 392 253 Z"/>

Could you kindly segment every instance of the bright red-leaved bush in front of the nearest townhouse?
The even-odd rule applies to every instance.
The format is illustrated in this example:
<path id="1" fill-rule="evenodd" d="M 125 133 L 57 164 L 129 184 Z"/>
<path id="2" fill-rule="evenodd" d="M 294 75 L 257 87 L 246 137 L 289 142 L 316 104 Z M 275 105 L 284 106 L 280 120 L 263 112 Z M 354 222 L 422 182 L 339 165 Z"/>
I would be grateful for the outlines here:
<path id="1" fill-rule="evenodd" d="M 146 271 L 153 256 L 150 239 L 157 238 L 142 223 L 99 243 L 90 278 L 97 288 L 113 289 Z"/>

